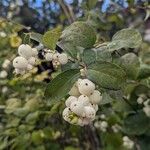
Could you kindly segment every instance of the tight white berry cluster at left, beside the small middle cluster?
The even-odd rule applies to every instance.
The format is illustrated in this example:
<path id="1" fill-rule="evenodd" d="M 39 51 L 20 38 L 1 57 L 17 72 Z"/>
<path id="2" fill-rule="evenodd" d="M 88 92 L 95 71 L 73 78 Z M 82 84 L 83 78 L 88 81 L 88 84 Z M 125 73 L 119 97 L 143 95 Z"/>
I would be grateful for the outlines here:
<path id="1" fill-rule="evenodd" d="M 19 56 L 13 60 L 15 73 L 24 74 L 36 64 L 38 51 L 36 48 L 31 48 L 28 44 L 22 44 L 18 48 L 18 54 Z"/>

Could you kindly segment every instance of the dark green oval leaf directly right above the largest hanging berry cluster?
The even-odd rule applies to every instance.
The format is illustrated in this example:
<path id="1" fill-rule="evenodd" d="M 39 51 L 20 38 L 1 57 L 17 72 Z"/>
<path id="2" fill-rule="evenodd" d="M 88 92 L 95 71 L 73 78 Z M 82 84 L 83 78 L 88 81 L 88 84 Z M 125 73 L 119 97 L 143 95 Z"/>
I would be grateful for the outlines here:
<path id="1" fill-rule="evenodd" d="M 100 87 L 108 89 L 120 89 L 125 81 L 124 70 L 112 63 L 97 62 L 90 65 L 87 70 L 87 77 Z"/>

